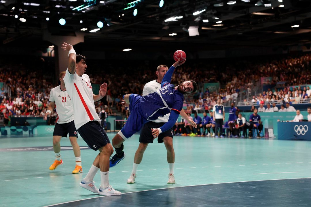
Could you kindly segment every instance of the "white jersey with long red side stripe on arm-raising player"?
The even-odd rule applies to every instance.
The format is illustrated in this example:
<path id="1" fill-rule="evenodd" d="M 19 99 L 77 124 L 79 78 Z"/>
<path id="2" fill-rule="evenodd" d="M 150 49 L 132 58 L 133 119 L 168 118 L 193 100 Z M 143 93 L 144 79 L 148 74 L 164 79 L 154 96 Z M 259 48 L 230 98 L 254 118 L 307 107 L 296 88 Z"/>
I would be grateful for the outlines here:
<path id="1" fill-rule="evenodd" d="M 92 120 L 100 123 L 100 118 L 95 109 L 89 76 L 87 74 L 82 76 L 77 75 L 77 73 L 70 74 L 67 69 L 64 82 L 72 100 L 76 129 Z"/>

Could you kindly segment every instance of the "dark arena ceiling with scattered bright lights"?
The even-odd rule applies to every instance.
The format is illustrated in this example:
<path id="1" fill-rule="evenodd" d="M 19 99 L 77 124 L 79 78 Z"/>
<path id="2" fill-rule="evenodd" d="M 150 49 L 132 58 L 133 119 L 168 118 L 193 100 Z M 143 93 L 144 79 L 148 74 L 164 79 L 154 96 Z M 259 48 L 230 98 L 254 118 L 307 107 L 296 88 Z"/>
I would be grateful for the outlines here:
<path id="1" fill-rule="evenodd" d="M 221 47 L 311 43 L 310 0 L 233 2 L 164 0 L 160 7 L 160 0 L 1 0 L 0 34 L 3 44 L 35 39 L 46 31 L 67 36 L 83 33 L 94 43 L 135 41 L 155 46 L 160 42 Z M 66 20 L 65 25 L 59 24 L 60 18 Z M 91 33 L 98 21 L 104 26 Z M 189 31 L 196 30 L 199 35 L 189 36 Z"/>

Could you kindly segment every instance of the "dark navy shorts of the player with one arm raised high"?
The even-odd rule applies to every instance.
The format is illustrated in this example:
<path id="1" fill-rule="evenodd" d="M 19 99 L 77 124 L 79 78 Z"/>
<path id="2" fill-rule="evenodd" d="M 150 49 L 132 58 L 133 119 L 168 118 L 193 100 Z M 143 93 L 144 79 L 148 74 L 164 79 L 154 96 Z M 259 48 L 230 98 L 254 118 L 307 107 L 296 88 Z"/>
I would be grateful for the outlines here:
<path id="1" fill-rule="evenodd" d="M 105 130 L 100 126 L 98 121 L 89 121 L 82 125 L 78 129 L 78 132 L 86 144 L 95 151 L 110 143 Z"/>

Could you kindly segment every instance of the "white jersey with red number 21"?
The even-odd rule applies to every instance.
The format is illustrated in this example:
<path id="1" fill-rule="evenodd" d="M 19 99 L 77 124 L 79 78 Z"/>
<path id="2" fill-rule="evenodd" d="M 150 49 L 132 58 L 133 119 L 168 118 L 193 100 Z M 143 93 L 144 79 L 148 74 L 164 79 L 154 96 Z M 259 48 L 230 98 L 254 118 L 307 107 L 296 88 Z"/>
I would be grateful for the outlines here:
<path id="1" fill-rule="evenodd" d="M 73 115 L 72 101 L 67 91 L 62 91 L 60 86 L 51 89 L 50 102 L 55 102 L 56 123 L 66 124 L 75 119 Z"/>

